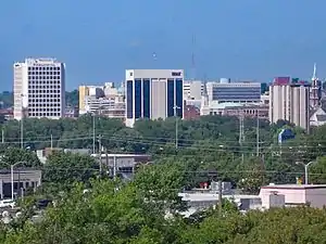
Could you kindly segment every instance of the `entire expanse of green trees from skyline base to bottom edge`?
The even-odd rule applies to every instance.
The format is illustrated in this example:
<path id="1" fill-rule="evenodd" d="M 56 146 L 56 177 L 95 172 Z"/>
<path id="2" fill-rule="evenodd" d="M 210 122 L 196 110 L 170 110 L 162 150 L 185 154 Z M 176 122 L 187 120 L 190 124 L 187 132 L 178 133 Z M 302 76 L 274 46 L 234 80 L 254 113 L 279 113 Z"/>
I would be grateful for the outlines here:
<path id="1" fill-rule="evenodd" d="M 177 193 L 199 182 L 229 180 L 246 193 L 256 193 L 268 182 L 294 182 L 303 172 L 297 162 L 316 160 L 311 180 L 326 179 L 326 127 L 311 134 L 284 121 L 244 120 L 244 141 L 239 143 L 236 117 L 206 116 L 179 121 L 175 147 L 175 119 L 139 120 L 126 128 L 121 120 L 96 117 L 96 133 L 108 152 L 150 153 L 152 165 L 137 169 L 131 182 L 101 175 L 95 158 L 53 153 L 40 164 L 34 149 L 50 146 L 92 149 L 89 115 L 78 119 L 25 119 L 25 146 L 20 149 L 20 124 L 2 124 L 2 168 L 16 162 L 43 170 L 43 184 L 22 202 L 22 217 L 0 226 L 1 243 L 324 243 L 325 209 L 271 209 L 240 214 L 224 202 L 222 210 L 209 209 L 185 218 L 186 205 Z M 281 145 L 277 133 L 289 127 L 296 139 Z M 98 143 L 97 143 L 98 150 Z M 86 192 L 85 189 L 88 189 Z M 51 198 L 40 222 L 32 222 L 37 198 Z"/>

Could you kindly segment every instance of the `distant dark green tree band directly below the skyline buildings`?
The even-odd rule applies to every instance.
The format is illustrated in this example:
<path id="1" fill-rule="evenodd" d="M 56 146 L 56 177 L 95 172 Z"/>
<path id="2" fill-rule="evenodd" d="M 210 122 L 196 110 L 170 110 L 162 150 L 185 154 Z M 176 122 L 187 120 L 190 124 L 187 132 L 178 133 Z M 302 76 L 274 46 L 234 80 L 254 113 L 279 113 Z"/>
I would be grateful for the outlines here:
<path id="1" fill-rule="evenodd" d="M 305 134 L 303 130 L 285 121 L 269 125 L 261 120 L 259 143 L 256 119 L 244 120 L 242 143 L 239 143 L 237 117 L 204 116 L 198 120 L 179 121 L 176 149 L 175 118 L 139 120 L 134 128 L 126 128 L 118 119 L 90 115 L 59 120 L 27 118 L 24 120 L 24 147 L 33 151 L 52 145 L 92 150 L 93 123 L 97 151 L 100 136 L 101 144 L 109 153 L 149 153 L 156 163 L 174 162 L 185 168 L 190 187 L 206 179 L 205 171 L 213 169 L 220 178 L 230 180 L 235 185 L 241 182 L 243 191 L 256 192 L 262 183 L 294 182 L 296 177 L 303 172 L 303 167 L 297 162 L 308 163 L 316 158 L 319 158 L 319 163 L 312 166 L 311 172 L 316 175 L 311 179 L 322 182 L 325 178 L 325 160 L 322 157 L 326 146 L 326 127 L 313 128 L 311 134 Z M 8 162 L 21 160 L 21 154 L 15 152 L 21 146 L 20 121 L 7 121 L 1 127 L 4 132 L 2 151 L 11 155 Z M 296 139 L 280 145 L 277 134 L 285 127 L 292 128 Z M 9 147 L 11 150 L 7 152 Z M 63 164 L 64 167 L 73 165 Z"/>

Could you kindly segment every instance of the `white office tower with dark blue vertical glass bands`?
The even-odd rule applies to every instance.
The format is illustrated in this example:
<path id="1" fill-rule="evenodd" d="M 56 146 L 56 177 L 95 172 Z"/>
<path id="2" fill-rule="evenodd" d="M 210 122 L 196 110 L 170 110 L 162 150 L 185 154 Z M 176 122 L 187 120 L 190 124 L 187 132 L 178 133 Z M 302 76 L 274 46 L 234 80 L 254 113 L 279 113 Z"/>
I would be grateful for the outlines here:
<path id="1" fill-rule="evenodd" d="M 181 69 L 127 69 L 126 126 L 138 118 L 183 117 L 183 84 Z"/>

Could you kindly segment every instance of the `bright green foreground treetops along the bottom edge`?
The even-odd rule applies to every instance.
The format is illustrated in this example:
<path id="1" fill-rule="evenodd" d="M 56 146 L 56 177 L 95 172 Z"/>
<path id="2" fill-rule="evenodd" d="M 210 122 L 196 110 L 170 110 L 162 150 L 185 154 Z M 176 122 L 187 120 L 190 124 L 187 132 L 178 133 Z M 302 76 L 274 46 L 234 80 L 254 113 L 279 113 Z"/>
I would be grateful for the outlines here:
<path id="1" fill-rule="evenodd" d="M 161 205 L 149 207 L 134 184 L 96 180 L 89 193 L 84 188 L 75 184 L 58 206 L 46 210 L 39 223 L 0 226 L 0 242 L 318 244 L 326 237 L 326 209 L 275 208 L 243 215 L 225 202 L 222 211 L 210 209 L 200 221 L 188 221 L 178 216 L 165 218 Z"/>

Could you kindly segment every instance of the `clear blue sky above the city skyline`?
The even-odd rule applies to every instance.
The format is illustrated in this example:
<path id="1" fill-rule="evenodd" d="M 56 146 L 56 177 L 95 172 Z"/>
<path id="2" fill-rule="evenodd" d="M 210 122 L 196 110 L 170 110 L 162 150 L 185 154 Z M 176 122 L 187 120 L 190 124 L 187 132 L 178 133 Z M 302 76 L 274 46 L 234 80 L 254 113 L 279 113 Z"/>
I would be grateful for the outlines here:
<path id="1" fill-rule="evenodd" d="M 40 56 L 66 64 L 66 90 L 121 82 L 128 68 L 266 82 L 310 79 L 316 62 L 326 78 L 325 9 L 325 0 L 0 1 L 0 90 L 12 90 L 14 62 Z"/>

